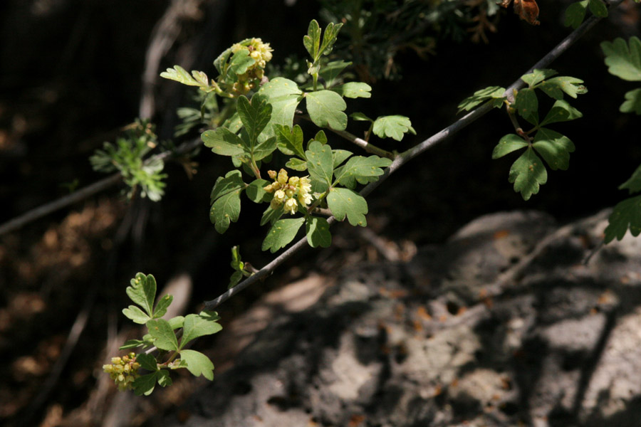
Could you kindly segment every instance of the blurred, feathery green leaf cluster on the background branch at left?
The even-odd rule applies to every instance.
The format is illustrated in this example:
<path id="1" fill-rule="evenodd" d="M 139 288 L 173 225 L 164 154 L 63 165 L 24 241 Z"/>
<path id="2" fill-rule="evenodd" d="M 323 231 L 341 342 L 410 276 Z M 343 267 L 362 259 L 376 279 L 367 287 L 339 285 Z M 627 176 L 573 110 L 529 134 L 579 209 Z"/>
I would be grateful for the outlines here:
<path id="1" fill-rule="evenodd" d="M 140 187 L 142 197 L 159 201 L 165 194 L 167 174 L 162 159 L 145 156 L 157 146 L 154 127 L 146 121 L 137 120 L 125 130 L 125 135 L 116 139 L 115 144 L 105 142 L 103 149 L 96 149 L 89 162 L 98 172 L 120 172 L 125 184 L 129 186 L 128 197 L 132 197 Z"/>

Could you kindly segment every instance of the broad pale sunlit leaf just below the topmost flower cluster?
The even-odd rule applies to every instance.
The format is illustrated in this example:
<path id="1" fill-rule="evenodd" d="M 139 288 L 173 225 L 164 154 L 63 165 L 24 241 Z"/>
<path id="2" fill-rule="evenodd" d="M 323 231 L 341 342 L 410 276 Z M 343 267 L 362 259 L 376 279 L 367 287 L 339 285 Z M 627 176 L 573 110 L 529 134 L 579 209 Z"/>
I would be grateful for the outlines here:
<path id="1" fill-rule="evenodd" d="M 293 116 L 296 113 L 296 107 L 300 102 L 299 97 L 303 95 L 296 82 L 286 78 L 277 77 L 261 86 L 258 91 L 261 95 L 267 98 L 267 102 L 271 104 L 271 120 L 265 132 L 267 135 L 274 135 L 271 129 L 273 125 L 293 125 Z M 271 132 L 271 133 L 269 133 Z"/>

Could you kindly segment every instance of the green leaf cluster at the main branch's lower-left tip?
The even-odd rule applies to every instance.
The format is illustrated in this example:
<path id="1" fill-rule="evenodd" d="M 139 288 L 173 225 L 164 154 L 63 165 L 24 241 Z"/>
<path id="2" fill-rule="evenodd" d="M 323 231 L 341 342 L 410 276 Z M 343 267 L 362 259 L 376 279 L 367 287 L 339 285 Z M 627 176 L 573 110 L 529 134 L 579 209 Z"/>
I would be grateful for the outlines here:
<path id="1" fill-rule="evenodd" d="M 209 357 L 185 347 L 198 337 L 215 334 L 222 330 L 222 326 L 217 322 L 220 317 L 216 312 L 203 311 L 198 315 L 177 316 L 170 320 L 163 319 L 162 317 L 167 313 L 167 307 L 172 303 L 173 297 L 165 295 L 154 305 L 156 280 L 152 275 L 137 273 L 126 292 L 135 305 L 125 308 L 123 314 L 132 322 L 145 325 L 147 334 L 142 339 L 128 340 L 120 349 L 137 347 L 145 349 L 155 346 L 162 350 L 159 357 L 167 355 L 167 360 L 160 362 L 152 354 L 137 354 L 136 362 L 150 373 L 135 379 L 133 382 L 135 394 L 149 395 L 154 391 L 156 384 L 162 387 L 171 385 L 172 379 L 168 369 L 186 368 L 194 376 L 202 375 L 209 380 L 214 379 L 214 364 L 209 360 Z M 182 337 L 180 338 L 176 334 L 176 330 L 179 328 L 182 328 Z"/>

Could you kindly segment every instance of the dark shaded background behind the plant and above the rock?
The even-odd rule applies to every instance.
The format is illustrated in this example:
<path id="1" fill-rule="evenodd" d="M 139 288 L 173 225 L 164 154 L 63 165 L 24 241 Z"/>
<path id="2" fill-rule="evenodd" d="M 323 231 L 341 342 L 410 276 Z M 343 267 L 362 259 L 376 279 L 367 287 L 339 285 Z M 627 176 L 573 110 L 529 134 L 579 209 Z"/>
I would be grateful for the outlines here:
<path id="1" fill-rule="evenodd" d="M 185 12 L 159 71 L 180 64 L 213 75 L 212 60 L 251 36 L 271 43 L 276 64 L 290 53 L 303 56 L 302 36 L 319 8 L 312 1 L 291 7 L 280 1 L 194 3 L 199 7 Z M 427 60 L 401 51 L 396 59 L 403 78 L 372 83 L 372 98 L 350 101 L 348 107 L 370 117 L 410 117 L 417 136 L 381 142 L 386 149 L 402 151 L 422 141 L 456 120 L 462 98 L 488 85 L 511 84 L 569 33 L 562 25 L 568 1 L 538 3 L 541 26 L 501 11 L 498 32 L 489 34 L 487 44 L 444 35 Z M 0 3 L 0 222 L 68 194 L 64 183 L 78 179 L 85 186 L 103 178 L 92 171 L 88 157 L 140 114 L 145 53 L 168 6 L 169 1 L 145 0 Z M 589 89 L 573 102 L 583 119 L 557 127 L 577 147 L 568 172 L 548 171 L 541 193 L 523 201 L 507 182 L 514 157 L 490 158 L 498 139 L 511 132 L 506 115 L 496 110 L 382 184 L 370 196 L 372 230 L 392 243 L 422 246 L 443 241 L 471 218 L 492 211 L 539 209 L 568 221 L 622 199 L 617 186 L 641 162 L 640 120 L 620 114 L 618 107 L 636 86 L 608 74 L 599 43 L 638 34 L 639 12 L 627 1 L 552 65 L 562 75 L 582 78 Z M 168 138 L 177 124 L 174 110 L 189 102 L 189 95 L 160 78 L 154 91 L 152 117 L 159 135 Z M 350 123 L 349 130 L 361 135 L 359 125 Z M 330 138 L 333 146 L 343 144 Z M 28 423 L 34 425 L 43 419 L 71 425 L 73 414 L 86 410 L 108 356 L 105 340 L 123 321 L 118 314 L 123 290 L 137 271 L 153 273 L 160 284 L 189 272 L 194 302 L 188 310 L 193 311 L 225 290 L 231 246 L 242 243 L 244 258 L 254 265 L 271 259 L 259 250 L 264 229 L 232 224 L 220 236 L 209 223 L 209 191 L 229 160 L 207 150 L 193 160 L 199 167 L 192 179 L 181 164 L 167 164 L 170 178 L 160 203 L 127 202 L 120 188 L 110 189 L 0 238 L 0 423 L 25 425 L 24 417 L 31 416 Z M 257 222 L 260 209 L 243 209 L 241 221 Z M 309 270 L 368 256 L 360 233 L 342 224 L 335 228 L 332 248 L 298 255 L 293 267 L 222 307 L 223 318 Z M 348 255 L 354 253 L 360 255 Z M 83 312 L 90 315 L 71 359 L 47 388 L 68 332 Z M 43 388 L 49 392 L 38 401 Z"/>

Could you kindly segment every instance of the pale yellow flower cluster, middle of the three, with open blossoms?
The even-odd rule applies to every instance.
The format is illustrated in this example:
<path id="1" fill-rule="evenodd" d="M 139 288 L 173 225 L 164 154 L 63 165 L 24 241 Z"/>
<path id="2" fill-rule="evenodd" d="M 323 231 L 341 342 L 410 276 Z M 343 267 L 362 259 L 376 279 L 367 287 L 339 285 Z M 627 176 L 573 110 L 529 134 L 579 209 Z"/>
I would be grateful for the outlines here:
<path id="1" fill-rule="evenodd" d="M 283 209 L 293 215 L 296 213 L 298 203 L 305 207 L 311 204 L 312 196 L 309 194 L 311 181 L 307 176 L 291 176 L 290 178 L 285 169 L 281 169 L 278 174 L 276 171 L 268 171 L 267 173 L 274 180 L 272 184 L 264 187 L 265 191 L 273 193 L 271 209 L 277 209 L 283 205 Z"/>

